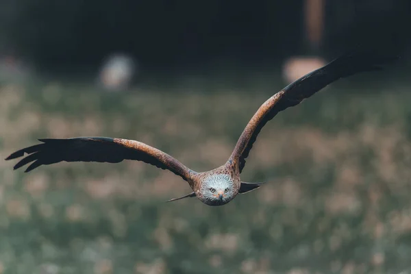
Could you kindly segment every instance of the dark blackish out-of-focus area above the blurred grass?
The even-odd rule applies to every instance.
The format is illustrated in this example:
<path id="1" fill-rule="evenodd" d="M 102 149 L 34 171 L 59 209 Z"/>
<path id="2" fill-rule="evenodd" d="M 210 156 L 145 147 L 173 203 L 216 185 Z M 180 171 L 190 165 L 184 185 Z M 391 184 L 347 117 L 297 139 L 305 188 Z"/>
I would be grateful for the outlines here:
<path id="1" fill-rule="evenodd" d="M 408 0 L 325 1 L 321 54 L 359 43 L 410 48 Z M 273 64 L 306 53 L 303 1 L 1 0 L 0 49 L 47 71 L 98 66 L 112 51 L 145 70 L 195 69 L 224 58 Z"/>

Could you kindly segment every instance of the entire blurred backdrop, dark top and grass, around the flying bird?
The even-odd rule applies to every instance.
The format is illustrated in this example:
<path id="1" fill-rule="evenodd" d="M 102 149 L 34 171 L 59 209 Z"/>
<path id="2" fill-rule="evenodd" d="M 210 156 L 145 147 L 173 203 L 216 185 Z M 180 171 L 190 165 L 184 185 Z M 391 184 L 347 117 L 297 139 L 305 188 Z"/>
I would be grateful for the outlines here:
<path id="1" fill-rule="evenodd" d="M 164 203 L 188 184 L 141 162 L 0 160 L 0 273 L 411 273 L 411 5 L 325 3 L 312 50 L 297 0 L 1 0 L 2 159 L 112 136 L 206 171 L 287 84 L 287 58 L 358 43 L 402 58 L 277 115 L 242 173 L 266 184 L 223 207 Z M 135 73 L 113 91 L 99 73 L 115 53 Z"/>

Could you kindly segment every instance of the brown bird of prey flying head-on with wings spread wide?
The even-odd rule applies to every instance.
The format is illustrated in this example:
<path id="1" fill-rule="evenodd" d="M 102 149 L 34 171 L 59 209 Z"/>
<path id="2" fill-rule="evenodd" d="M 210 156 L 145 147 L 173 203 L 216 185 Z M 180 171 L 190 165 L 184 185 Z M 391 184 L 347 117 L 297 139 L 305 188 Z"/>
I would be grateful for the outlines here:
<path id="1" fill-rule="evenodd" d="M 123 160 L 138 160 L 160 169 L 168 169 L 188 182 L 192 192 L 169 201 L 197 197 L 208 206 L 222 206 L 232 201 L 238 193 L 247 193 L 262 185 L 241 182 L 240 173 L 262 127 L 278 112 L 298 105 L 303 99 L 311 97 L 340 78 L 363 71 L 379 70 L 383 64 L 394 59 L 396 57 L 370 51 L 351 51 L 292 82 L 260 106 L 238 138 L 227 162 L 211 171 L 192 171 L 171 155 L 136 140 L 107 137 L 39 139 L 40 144 L 16 151 L 5 160 L 19 158 L 28 153 L 14 166 L 14 169 L 18 169 L 32 162 L 25 172 L 32 171 L 42 164 L 62 161 L 118 163 Z"/>

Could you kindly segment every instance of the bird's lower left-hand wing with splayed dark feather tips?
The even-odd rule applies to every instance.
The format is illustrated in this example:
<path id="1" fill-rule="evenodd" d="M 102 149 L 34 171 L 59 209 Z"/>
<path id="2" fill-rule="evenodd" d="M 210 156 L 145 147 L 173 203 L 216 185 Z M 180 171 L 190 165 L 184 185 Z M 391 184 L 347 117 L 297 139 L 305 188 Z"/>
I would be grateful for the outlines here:
<path id="1" fill-rule="evenodd" d="M 142 142 L 121 138 L 78 137 L 68 139 L 39 139 L 42 143 L 12 153 L 5 160 L 25 158 L 14 169 L 30 164 L 25 172 L 42 164 L 66 162 L 110 162 L 138 160 L 160 169 L 168 169 L 189 182 L 190 169 L 170 155 Z"/>

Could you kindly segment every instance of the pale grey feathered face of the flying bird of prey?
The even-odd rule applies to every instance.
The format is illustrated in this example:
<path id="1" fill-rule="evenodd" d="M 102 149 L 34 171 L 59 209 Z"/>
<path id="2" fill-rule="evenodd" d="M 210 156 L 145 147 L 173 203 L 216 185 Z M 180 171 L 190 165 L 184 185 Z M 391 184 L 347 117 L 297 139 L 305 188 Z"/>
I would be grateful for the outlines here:
<path id="1" fill-rule="evenodd" d="M 223 206 L 235 196 L 234 183 L 227 174 L 206 177 L 201 184 L 199 199 L 208 206 Z"/>

